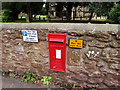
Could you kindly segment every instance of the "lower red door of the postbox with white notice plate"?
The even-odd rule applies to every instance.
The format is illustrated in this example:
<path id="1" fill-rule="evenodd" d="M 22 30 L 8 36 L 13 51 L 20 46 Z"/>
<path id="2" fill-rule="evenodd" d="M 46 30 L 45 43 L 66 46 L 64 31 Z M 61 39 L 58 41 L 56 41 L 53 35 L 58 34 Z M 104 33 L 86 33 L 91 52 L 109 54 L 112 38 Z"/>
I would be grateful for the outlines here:
<path id="1" fill-rule="evenodd" d="M 50 57 L 50 70 L 65 71 L 65 58 L 64 49 L 53 47 L 51 50 Z"/>

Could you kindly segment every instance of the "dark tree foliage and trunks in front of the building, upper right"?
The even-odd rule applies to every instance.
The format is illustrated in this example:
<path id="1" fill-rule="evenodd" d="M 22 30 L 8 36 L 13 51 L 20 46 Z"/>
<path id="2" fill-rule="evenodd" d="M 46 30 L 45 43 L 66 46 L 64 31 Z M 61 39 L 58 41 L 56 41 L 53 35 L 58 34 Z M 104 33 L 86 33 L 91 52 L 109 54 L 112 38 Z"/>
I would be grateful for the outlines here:
<path id="1" fill-rule="evenodd" d="M 61 12 L 63 7 L 66 7 L 66 17 L 67 20 L 71 20 L 71 12 L 73 7 L 81 6 L 89 8 L 89 21 L 91 21 L 93 17 L 93 13 L 97 14 L 97 16 L 109 16 L 109 11 L 113 7 L 113 2 L 58 2 L 56 6 L 56 11 Z M 59 14 L 59 17 L 61 15 Z"/>

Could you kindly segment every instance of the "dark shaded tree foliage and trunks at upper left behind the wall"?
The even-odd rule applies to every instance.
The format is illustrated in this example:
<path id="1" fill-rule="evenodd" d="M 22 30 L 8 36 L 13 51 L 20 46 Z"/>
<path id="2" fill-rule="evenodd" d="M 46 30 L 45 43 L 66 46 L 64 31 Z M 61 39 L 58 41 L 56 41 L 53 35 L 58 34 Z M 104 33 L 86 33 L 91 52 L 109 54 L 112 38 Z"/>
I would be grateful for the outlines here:
<path id="1" fill-rule="evenodd" d="M 18 19 L 20 12 L 28 14 L 30 21 L 33 14 L 40 14 L 44 2 L 3 2 L 2 9 L 11 10 L 13 19 Z"/>

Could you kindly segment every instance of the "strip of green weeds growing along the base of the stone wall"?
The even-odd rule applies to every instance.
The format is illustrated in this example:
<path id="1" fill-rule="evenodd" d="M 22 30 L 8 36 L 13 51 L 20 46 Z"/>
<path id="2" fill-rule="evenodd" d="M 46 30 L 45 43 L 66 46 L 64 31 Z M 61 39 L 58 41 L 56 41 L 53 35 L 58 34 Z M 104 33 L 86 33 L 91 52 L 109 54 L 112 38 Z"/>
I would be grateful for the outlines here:
<path id="1" fill-rule="evenodd" d="M 106 89 L 97 89 L 94 87 L 91 88 L 82 88 L 77 86 L 76 84 L 67 84 L 64 82 L 61 83 L 56 83 L 57 81 L 53 81 L 53 77 L 50 76 L 43 76 L 42 78 L 39 78 L 35 73 L 32 73 L 30 71 L 27 71 L 24 75 L 18 75 L 17 73 L 14 72 L 2 72 L 2 76 L 7 76 L 10 78 L 20 78 L 21 81 L 26 82 L 26 83 L 34 83 L 34 84 L 39 84 L 40 82 L 42 82 L 44 85 L 49 85 L 49 84 L 54 84 L 56 86 L 59 86 L 60 88 L 63 88 L 63 90 L 119 90 L 119 88 L 117 89 L 113 87 L 113 89 L 110 88 L 106 88 Z M 34 79 L 33 79 L 34 78 Z"/>

